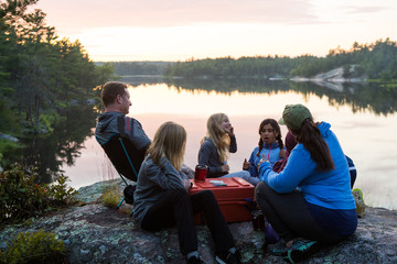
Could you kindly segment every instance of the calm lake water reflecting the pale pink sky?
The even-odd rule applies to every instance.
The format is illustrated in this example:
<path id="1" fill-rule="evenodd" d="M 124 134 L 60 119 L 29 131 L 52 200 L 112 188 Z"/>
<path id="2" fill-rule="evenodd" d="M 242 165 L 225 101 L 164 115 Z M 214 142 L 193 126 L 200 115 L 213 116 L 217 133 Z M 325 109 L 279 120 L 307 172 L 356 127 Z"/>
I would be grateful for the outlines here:
<path id="1" fill-rule="evenodd" d="M 213 89 L 217 89 L 215 91 Z M 397 209 L 397 91 L 396 89 L 350 85 L 346 87 L 314 84 L 139 84 L 129 88 L 130 117 L 138 119 L 150 139 L 165 121 L 182 124 L 187 131 L 185 163 L 194 167 L 206 120 L 215 112 L 228 114 L 237 136 L 238 151 L 230 154 L 230 170 L 242 169 L 258 142 L 262 119 L 278 120 L 287 103 L 305 105 L 315 121 L 331 123 L 342 147 L 357 168 L 354 187 L 364 193 L 364 200 L 374 207 Z M 287 128 L 281 125 L 285 138 Z M 75 188 L 116 178 L 104 151 L 93 136 L 94 125 L 73 163 L 62 169 Z"/>

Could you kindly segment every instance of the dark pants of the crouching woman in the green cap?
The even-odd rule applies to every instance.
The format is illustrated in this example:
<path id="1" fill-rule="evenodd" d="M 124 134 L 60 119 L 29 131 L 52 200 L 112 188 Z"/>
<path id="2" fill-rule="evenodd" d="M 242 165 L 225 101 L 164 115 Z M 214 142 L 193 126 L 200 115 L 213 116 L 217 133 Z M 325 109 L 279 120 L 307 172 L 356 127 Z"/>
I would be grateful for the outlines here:
<path id="1" fill-rule="evenodd" d="M 335 244 L 343 239 L 325 232 L 314 221 L 300 191 L 277 194 L 261 182 L 255 188 L 255 197 L 271 227 L 286 242 L 294 238 L 305 238 L 323 244 Z"/>

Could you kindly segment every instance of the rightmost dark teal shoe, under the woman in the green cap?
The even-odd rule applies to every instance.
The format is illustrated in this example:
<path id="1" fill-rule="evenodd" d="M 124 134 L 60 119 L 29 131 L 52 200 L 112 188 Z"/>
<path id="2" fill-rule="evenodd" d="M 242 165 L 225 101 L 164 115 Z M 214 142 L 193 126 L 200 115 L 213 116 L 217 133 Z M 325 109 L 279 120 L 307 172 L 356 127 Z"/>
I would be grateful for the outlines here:
<path id="1" fill-rule="evenodd" d="M 314 240 L 296 239 L 287 255 L 282 258 L 288 263 L 297 263 L 308 258 L 320 249 L 320 243 Z"/>

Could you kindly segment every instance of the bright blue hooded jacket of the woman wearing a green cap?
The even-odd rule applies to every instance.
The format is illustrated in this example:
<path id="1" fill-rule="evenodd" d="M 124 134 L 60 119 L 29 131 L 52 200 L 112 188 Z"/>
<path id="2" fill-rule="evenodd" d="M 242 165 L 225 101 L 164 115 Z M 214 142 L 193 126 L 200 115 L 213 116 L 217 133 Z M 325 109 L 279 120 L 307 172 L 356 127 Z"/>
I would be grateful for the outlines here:
<path id="1" fill-rule="evenodd" d="M 342 147 L 330 130 L 331 124 L 322 122 L 318 128 L 329 145 L 334 169 L 316 169 L 309 151 L 303 144 L 298 144 L 282 172 L 275 173 L 269 163 L 262 163 L 259 168 L 260 180 L 279 194 L 290 193 L 298 187 L 305 200 L 315 206 L 340 210 L 355 209 L 348 166 Z"/>

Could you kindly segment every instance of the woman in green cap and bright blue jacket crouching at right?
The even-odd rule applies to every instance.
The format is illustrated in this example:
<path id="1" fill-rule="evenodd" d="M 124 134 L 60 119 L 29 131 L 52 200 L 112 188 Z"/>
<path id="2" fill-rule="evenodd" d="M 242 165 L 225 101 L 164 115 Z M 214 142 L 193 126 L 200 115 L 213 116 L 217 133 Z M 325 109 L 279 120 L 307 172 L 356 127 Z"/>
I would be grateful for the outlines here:
<path id="1" fill-rule="evenodd" d="M 259 162 L 261 183 L 255 196 L 281 238 L 271 253 L 293 263 L 320 244 L 335 244 L 353 234 L 357 213 L 347 162 L 331 124 L 314 123 L 302 105 L 287 105 L 279 123 L 298 144 L 280 173 L 268 161 Z"/>

